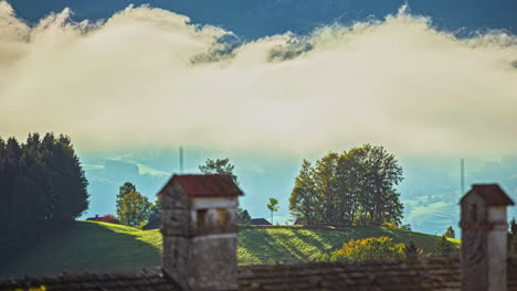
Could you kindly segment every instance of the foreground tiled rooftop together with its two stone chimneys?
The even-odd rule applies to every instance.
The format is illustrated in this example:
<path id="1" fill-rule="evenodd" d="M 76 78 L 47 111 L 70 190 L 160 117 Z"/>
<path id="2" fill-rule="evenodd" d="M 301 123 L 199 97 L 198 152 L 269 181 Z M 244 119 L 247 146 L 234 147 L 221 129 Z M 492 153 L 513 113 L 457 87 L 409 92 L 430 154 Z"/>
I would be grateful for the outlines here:
<path id="1" fill-rule="evenodd" d="M 225 175 L 173 175 L 159 192 L 161 270 L 0 278 L 0 291 L 517 291 L 517 258 L 506 254 L 506 206 L 497 185 L 462 198 L 462 258 L 238 266 L 236 206 Z"/>

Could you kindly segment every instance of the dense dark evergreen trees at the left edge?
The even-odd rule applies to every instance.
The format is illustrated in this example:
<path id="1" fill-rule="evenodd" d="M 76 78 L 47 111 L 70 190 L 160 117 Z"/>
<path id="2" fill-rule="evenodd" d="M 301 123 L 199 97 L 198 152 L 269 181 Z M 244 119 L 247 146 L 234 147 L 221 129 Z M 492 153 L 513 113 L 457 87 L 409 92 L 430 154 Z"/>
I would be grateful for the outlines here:
<path id="1" fill-rule="evenodd" d="M 78 217 L 87 185 L 68 137 L 0 138 L 0 256 Z"/>

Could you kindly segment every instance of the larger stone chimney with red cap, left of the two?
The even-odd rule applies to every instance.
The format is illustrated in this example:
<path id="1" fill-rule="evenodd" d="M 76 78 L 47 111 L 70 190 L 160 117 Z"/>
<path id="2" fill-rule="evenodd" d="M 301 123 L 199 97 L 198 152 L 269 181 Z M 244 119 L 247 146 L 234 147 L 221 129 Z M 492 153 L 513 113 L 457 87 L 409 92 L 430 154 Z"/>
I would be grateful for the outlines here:
<path id="1" fill-rule="evenodd" d="M 160 191 L 163 272 L 184 290 L 238 290 L 236 207 L 228 175 L 173 175 Z"/>

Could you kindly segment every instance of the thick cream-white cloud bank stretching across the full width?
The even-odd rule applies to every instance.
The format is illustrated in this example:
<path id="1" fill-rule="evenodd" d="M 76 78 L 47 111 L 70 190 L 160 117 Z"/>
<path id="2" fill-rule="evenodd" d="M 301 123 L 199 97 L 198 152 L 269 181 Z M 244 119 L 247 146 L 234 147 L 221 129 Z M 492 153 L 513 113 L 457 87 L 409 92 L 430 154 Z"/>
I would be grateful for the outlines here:
<path id="1" fill-rule="evenodd" d="M 70 13 L 28 26 L 0 1 L 0 136 L 65 132 L 84 150 L 517 149 L 514 35 L 456 39 L 401 9 L 235 46 L 230 32 L 160 9 L 102 23 Z"/>

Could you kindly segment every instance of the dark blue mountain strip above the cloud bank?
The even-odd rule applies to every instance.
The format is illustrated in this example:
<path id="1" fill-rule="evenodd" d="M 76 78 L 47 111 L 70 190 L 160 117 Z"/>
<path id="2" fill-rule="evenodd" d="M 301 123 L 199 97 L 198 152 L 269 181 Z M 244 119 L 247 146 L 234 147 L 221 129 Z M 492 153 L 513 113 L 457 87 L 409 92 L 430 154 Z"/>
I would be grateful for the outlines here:
<path id="1" fill-rule="evenodd" d="M 318 25 L 383 19 L 408 3 L 412 13 L 429 15 L 434 25 L 465 35 L 506 30 L 517 34 L 515 0 L 9 0 L 18 15 L 36 22 L 51 12 L 71 8 L 74 20 L 98 20 L 129 4 L 161 8 L 213 24 L 244 39 L 292 31 L 307 33 Z"/>

